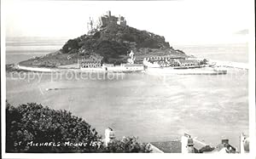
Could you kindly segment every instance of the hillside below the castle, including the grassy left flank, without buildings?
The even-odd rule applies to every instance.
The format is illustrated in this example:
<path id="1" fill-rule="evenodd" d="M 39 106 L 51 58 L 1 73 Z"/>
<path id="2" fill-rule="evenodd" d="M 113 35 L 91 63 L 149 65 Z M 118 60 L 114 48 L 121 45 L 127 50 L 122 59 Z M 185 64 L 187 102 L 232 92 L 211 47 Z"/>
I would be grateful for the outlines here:
<path id="1" fill-rule="evenodd" d="M 68 40 L 58 54 L 45 56 L 38 63 L 40 65 L 48 60 L 50 65 L 70 65 L 79 58 L 96 55 L 101 56 L 102 62 L 120 64 L 126 62 L 127 53 L 131 50 L 140 58 L 148 54 L 186 56 L 182 51 L 170 47 L 165 37 L 130 26 L 109 24 L 93 34 Z"/>

